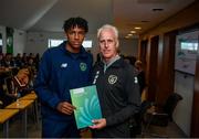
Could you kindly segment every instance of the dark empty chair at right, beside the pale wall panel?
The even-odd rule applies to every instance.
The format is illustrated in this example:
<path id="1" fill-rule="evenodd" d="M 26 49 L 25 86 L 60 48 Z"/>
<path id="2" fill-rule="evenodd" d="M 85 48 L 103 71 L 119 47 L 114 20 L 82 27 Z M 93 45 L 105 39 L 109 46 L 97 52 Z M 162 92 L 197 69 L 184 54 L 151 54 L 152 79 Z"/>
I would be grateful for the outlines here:
<path id="1" fill-rule="evenodd" d="M 182 97 L 172 93 L 166 100 L 163 107 L 154 106 L 153 110 L 148 110 L 144 117 L 146 124 L 145 131 L 149 128 L 150 125 L 166 127 L 169 121 L 172 121 L 172 113 Z"/>

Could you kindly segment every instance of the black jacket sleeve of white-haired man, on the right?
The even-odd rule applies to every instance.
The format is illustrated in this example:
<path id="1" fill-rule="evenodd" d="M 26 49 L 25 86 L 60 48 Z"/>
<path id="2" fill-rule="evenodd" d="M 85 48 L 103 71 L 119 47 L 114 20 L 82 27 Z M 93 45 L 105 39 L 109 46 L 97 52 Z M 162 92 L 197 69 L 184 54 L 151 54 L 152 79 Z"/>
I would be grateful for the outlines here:
<path id="1" fill-rule="evenodd" d="M 116 114 L 106 117 L 106 126 L 114 126 L 127 121 L 135 113 L 139 110 L 140 106 L 140 94 L 137 76 L 135 75 L 134 68 L 127 68 L 124 71 L 125 83 L 124 90 L 126 95 L 127 105 L 123 107 Z"/>

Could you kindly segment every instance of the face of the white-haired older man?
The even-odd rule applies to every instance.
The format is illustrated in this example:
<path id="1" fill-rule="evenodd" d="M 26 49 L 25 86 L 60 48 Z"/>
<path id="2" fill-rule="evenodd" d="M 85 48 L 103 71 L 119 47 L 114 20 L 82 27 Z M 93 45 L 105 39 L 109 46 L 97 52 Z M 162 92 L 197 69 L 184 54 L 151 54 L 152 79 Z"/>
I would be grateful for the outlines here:
<path id="1" fill-rule="evenodd" d="M 112 30 L 103 30 L 100 35 L 100 50 L 105 61 L 117 54 L 117 41 Z"/>

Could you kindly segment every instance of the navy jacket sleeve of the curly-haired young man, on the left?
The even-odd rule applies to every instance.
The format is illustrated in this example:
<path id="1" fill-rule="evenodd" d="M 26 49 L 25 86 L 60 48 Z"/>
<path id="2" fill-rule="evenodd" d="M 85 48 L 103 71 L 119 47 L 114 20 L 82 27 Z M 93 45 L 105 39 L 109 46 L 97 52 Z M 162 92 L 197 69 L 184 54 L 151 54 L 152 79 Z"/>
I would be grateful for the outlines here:
<path id="1" fill-rule="evenodd" d="M 52 67 L 52 61 L 51 61 L 51 54 L 50 50 L 48 50 L 41 60 L 39 73 L 36 75 L 35 82 L 34 82 L 34 90 L 39 96 L 39 99 L 42 104 L 45 104 L 52 108 L 56 108 L 57 104 L 61 101 L 57 97 L 57 94 L 50 90 L 49 88 L 49 82 L 51 78 L 51 67 Z"/>

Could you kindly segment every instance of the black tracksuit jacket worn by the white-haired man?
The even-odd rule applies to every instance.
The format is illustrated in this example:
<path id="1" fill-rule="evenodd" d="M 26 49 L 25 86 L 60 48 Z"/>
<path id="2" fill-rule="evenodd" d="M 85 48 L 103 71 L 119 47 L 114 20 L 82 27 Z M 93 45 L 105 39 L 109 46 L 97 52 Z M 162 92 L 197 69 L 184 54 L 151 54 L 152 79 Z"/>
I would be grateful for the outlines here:
<path id="1" fill-rule="evenodd" d="M 104 63 L 95 64 L 93 84 L 96 84 L 106 127 L 93 130 L 96 138 L 129 138 L 129 118 L 137 113 L 140 94 L 135 68 L 123 58 L 104 72 Z"/>

